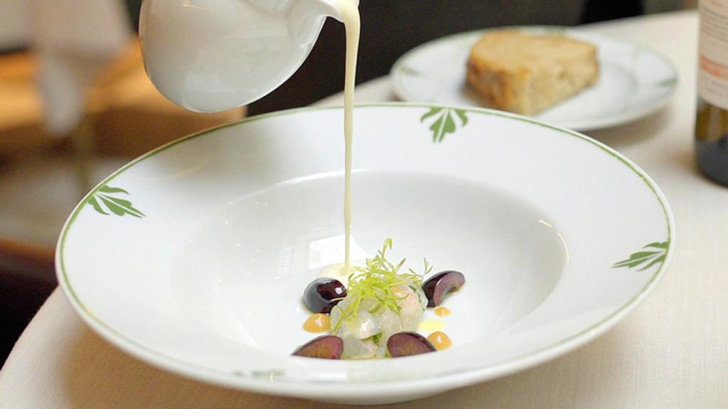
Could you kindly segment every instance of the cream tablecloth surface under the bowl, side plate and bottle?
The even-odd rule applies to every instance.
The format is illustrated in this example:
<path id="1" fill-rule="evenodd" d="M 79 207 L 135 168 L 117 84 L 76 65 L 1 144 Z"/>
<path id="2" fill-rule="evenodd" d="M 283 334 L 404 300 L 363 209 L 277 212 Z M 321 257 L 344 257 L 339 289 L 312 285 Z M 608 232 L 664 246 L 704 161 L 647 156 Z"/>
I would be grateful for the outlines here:
<path id="1" fill-rule="evenodd" d="M 589 132 L 642 167 L 665 192 L 677 247 L 664 279 L 633 314 L 577 351 L 512 376 L 389 408 L 728 408 L 728 188 L 695 166 L 697 15 L 676 12 L 584 26 L 648 44 L 681 81 L 645 119 Z M 387 79 L 357 102 L 392 100 Z M 341 95 L 320 104 L 340 104 Z M 326 408 L 234 391 L 153 368 L 92 333 L 59 290 L 0 372 L 0 408 Z"/>

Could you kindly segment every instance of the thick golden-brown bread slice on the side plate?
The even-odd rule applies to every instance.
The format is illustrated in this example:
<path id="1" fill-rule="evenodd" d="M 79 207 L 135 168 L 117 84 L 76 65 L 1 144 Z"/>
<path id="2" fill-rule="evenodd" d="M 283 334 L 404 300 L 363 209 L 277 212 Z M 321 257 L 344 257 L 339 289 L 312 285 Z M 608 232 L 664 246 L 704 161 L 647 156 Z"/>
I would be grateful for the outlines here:
<path id="1" fill-rule="evenodd" d="M 531 115 L 597 82 L 593 44 L 517 30 L 488 31 L 470 51 L 467 82 L 487 106 Z"/>

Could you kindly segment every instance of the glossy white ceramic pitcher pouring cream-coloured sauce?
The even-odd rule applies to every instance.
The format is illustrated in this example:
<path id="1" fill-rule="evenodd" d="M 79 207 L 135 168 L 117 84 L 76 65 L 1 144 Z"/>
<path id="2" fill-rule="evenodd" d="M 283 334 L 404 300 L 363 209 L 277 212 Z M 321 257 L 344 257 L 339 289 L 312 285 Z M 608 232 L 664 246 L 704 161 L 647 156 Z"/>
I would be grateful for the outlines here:
<path id="1" fill-rule="evenodd" d="M 144 0 L 139 34 L 149 78 L 191 111 L 243 106 L 309 55 L 337 0 Z"/>

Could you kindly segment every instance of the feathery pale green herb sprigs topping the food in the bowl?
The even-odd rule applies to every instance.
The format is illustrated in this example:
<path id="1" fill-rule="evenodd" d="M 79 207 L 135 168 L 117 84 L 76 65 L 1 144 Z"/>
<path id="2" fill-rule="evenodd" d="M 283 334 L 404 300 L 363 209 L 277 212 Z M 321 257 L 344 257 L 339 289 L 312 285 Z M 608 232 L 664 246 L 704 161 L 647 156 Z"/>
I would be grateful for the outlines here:
<path id="1" fill-rule="evenodd" d="M 347 288 L 347 298 L 353 299 L 344 311 L 341 313 L 341 319 L 336 322 L 333 327 L 333 333 L 336 333 L 341 327 L 341 322 L 355 317 L 359 306 L 365 299 L 376 300 L 376 305 L 369 310 L 375 313 L 381 308 L 388 308 L 399 313 L 401 307 L 397 301 L 403 299 L 395 294 L 397 285 L 409 285 L 413 290 L 417 290 L 422 286 L 422 277 L 432 271 L 432 266 L 424 259 L 424 273 L 417 274 L 413 269 L 400 273 L 400 269 L 404 265 L 406 258 L 396 265 L 387 260 L 387 250 L 392 249 L 392 239 L 384 240 L 381 250 L 377 251 L 377 255 L 373 258 L 367 258 L 365 266 L 355 266 L 352 274 L 349 274 L 349 286 Z"/>

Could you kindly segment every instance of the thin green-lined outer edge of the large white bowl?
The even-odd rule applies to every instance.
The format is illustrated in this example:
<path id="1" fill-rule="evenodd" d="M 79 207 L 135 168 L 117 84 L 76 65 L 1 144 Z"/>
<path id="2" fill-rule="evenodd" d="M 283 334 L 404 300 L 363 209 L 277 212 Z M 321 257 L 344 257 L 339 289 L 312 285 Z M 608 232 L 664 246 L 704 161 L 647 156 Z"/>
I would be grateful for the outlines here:
<path id="1" fill-rule="evenodd" d="M 109 343 L 113 344 L 123 352 L 137 357 L 151 365 L 167 370 L 171 373 L 176 373 L 187 378 L 196 379 L 209 384 L 215 384 L 220 386 L 228 386 L 234 389 L 242 389 L 250 392 L 276 394 L 280 396 L 289 397 L 305 397 L 310 399 L 353 399 L 355 397 L 364 399 L 371 397 L 371 389 L 376 388 L 378 397 L 394 397 L 401 396 L 403 394 L 435 394 L 443 392 L 448 389 L 455 389 L 457 387 L 475 384 L 482 381 L 487 381 L 492 378 L 499 378 L 506 376 L 511 373 L 518 372 L 526 368 L 532 368 L 548 360 L 552 360 L 555 357 L 561 356 L 566 352 L 570 352 L 577 349 L 579 346 L 587 344 L 594 338 L 597 338 L 602 333 L 614 327 L 617 322 L 631 311 L 636 309 L 642 301 L 652 293 L 654 287 L 660 282 L 660 279 L 665 274 L 665 270 L 669 265 L 674 248 L 675 248 L 675 229 L 676 224 L 673 216 L 673 212 L 670 208 L 665 194 L 662 192 L 657 183 L 647 175 L 638 165 L 634 164 L 626 156 L 615 151 L 613 148 L 606 146 L 598 140 L 590 138 L 587 135 L 569 130 L 564 127 L 558 127 L 556 125 L 547 124 L 545 122 L 538 121 L 536 119 L 521 116 L 518 114 L 512 114 L 505 111 L 498 111 L 489 108 L 478 108 L 472 106 L 451 106 L 437 103 L 367 103 L 355 106 L 356 108 L 450 108 L 450 109 L 462 109 L 464 111 L 473 112 L 477 114 L 486 114 L 492 116 L 505 117 L 507 119 L 517 120 L 520 122 L 527 122 L 529 124 L 535 124 L 541 127 L 546 127 L 550 130 L 562 132 L 566 135 L 581 139 L 587 143 L 591 143 L 594 146 L 601 148 L 605 154 L 613 156 L 619 162 L 630 168 L 636 177 L 647 185 L 650 191 L 654 194 L 657 202 L 662 207 L 662 213 L 665 216 L 665 223 L 668 233 L 668 249 L 665 256 L 665 261 L 654 271 L 649 281 L 638 291 L 632 298 L 626 301 L 622 306 L 612 311 L 603 319 L 592 325 L 583 328 L 571 335 L 561 338 L 552 344 L 542 346 L 531 352 L 518 355 L 502 362 L 496 362 L 494 365 L 488 365 L 487 367 L 480 368 L 461 368 L 454 373 L 444 373 L 437 376 L 430 376 L 427 378 L 410 378 L 403 381 L 371 381 L 371 382 L 359 382 L 352 383 L 347 381 L 342 382 L 321 382 L 310 379 L 277 379 L 274 381 L 273 378 L 254 378 L 254 377 L 242 377 L 236 376 L 233 373 L 229 373 L 222 370 L 216 370 L 213 368 L 203 367 L 201 365 L 193 364 L 179 360 L 174 357 L 167 356 L 163 352 L 156 351 L 143 344 L 127 338 L 127 336 L 114 330 L 111 325 L 103 322 L 102 319 L 98 318 L 93 314 L 87 306 L 84 305 L 79 296 L 75 293 L 70 280 L 68 279 L 68 273 L 64 264 L 64 249 L 66 246 L 66 237 L 68 231 L 71 229 L 74 221 L 87 206 L 90 197 L 95 194 L 101 187 L 106 186 L 108 182 L 114 180 L 118 175 L 121 175 L 124 171 L 130 169 L 135 164 L 142 162 L 143 160 L 149 159 L 152 156 L 159 154 L 173 146 L 184 143 L 188 140 L 198 138 L 212 132 L 222 130 L 228 127 L 235 127 L 240 124 L 246 124 L 248 122 L 256 122 L 261 119 L 271 118 L 275 116 L 286 116 L 292 114 L 299 114 L 302 112 L 310 111 L 333 111 L 343 109 L 341 106 L 325 106 L 325 107 L 304 107 L 304 108 L 293 108 L 285 111 L 275 111 L 267 114 L 261 114 L 257 116 L 251 116 L 249 118 L 241 119 L 236 122 L 229 124 L 222 124 L 217 127 L 211 127 L 207 130 L 195 132 L 191 135 L 186 135 L 177 140 L 173 140 L 169 143 L 165 143 L 158 148 L 155 148 L 146 154 L 138 156 L 138 158 L 124 164 L 119 170 L 111 173 L 108 177 L 104 178 L 94 188 L 92 188 L 84 197 L 81 199 L 79 204 L 76 204 L 71 215 L 68 216 L 66 222 L 63 225 L 63 229 L 60 232 L 58 245 L 56 246 L 55 253 L 55 266 L 56 266 L 56 277 L 58 283 L 66 299 L 71 303 L 71 306 L 76 311 L 76 314 L 82 318 L 82 320 L 92 328 L 98 335 L 101 335 Z"/>

